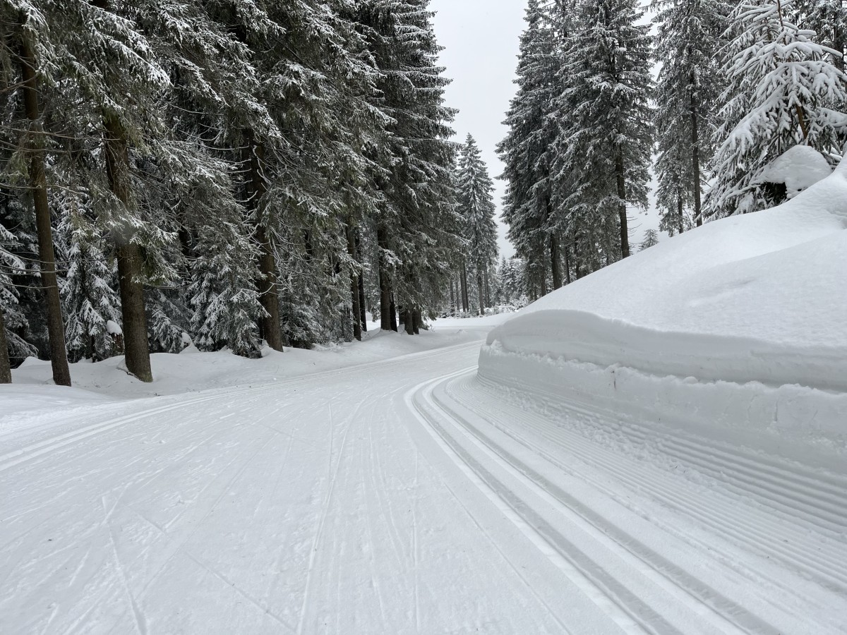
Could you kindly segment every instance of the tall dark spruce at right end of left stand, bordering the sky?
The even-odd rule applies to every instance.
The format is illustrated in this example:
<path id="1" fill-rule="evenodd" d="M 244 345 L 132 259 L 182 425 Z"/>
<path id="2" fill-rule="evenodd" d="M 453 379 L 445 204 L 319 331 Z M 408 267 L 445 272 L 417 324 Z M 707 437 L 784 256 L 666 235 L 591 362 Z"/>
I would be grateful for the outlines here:
<path id="1" fill-rule="evenodd" d="M 452 199 L 453 148 L 447 141 L 451 109 L 443 104 L 449 80 L 440 76 L 439 47 L 429 0 L 367 0 L 358 21 L 379 69 L 374 105 L 390 117 L 369 155 L 384 196 L 375 215 L 379 314 L 396 329 L 396 306 L 410 312 L 412 331 L 440 304 L 460 219 Z"/>

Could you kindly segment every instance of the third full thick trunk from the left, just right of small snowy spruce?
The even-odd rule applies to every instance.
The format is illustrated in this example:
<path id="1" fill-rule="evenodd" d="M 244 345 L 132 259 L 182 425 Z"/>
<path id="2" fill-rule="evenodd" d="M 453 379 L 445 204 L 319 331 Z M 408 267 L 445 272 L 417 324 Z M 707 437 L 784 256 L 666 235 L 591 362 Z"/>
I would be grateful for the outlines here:
<path id="1" fill-rule="evenodd" d="M 262 198 L 268 191 L 264 176 L 264 146 L 257 141 L 252 130 L 247 131 L 247 168 L 250 175 L 250 201 L 256 222 L 256 242 L 259 245 L 258 267 L 262 274 L 258 280 L 259 301 L 264 315 L 259 320 L 259 330 L 268 346 L 282 352 L 282 323 L 280 322 L 280 291 L 276 282 L 276 254 L 274 239 L 261 210 Z"/>

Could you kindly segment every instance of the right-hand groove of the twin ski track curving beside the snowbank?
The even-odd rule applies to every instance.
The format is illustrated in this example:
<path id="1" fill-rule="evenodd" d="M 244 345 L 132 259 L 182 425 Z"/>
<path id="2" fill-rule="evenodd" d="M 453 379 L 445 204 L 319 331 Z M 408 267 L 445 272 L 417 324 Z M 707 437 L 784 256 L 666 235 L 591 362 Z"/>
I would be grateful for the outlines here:
<path id="1" fill-rule="evenodd" d="M 465 375 L 467 376 L 467 373 L 465 373 Z M 465 428 L 467 433 L 473 434 L 473 437 L 475 437 L 479 443 L 484 444 L 491 452 L 500 456 L 501 461 L 507 463 L 509 468 L 513 471 L 519 472 L 523 477 L 529 478 L 529 480 L 533 481 L 535 486 L 544 491 L 545 494 L 551 495 L 561 505 L 566 506 L 577 515 L 582 516 L 586 522 L 589 522 L 591 525 L 596 527 L 600 533 L 608 534 L 621 548 L 628 551 L 628 553 L 633 555 L 635 558 L 644 562 L 647 566 L 650 566 L 657 575 L 666 578 L 669 583 L 683 591 L 689 599 L 693 600 L 697 605 L 706 607 L 714 616 L 717 616 L 720 620 L 727 621 L 727 626 L 732 624 L 732 627 L 739 629 L 739 631 L 742 632 L 778 632 L 778 629 L 771 624 L 768 624 L 767 621 L 761 620 L 759 616 L 745 610 L 742 606 L 734 603 L 733 600 L 717 593 L 717 591 L 708 584 L 704 584 L 701 581 L 696 580 L 695 577 L 690 576 L 687 572 L 684 572 L 677 566 L 674 566 L 673 563 L 669 562 L 664 557 L 655 554 L 652 549 L 640 544 L 637 539 L 628 535 L 628 533 L 623 531 L 620 527 L 610 527 L 607 522 L 603 522 L 603 519 L 597 517 L 595 514 L 586 514 L 586 511 L 590 512 L 590 510 L 587 510 L 587 508 L 584 508 L 584 505 L 579 504 L 575 500 L 563 500 L 570 497 L 567 497 L 567 494 L 564 494 L 564 492 L 561 489 L 556 488 L 555 485 L 551 488 L 552 483 L 545 483 L 546 479 L 544 477 L 541 477 L 531 468 L 525 466 L 522 461 L 519 461 L 501 446 L 494 444 L 490 439 L 485 437 L 483 434 L 480 434 L 473 426 L 464 421 L 460 415 L 457 415 L 454 411 L 450 411 L 443 405 L 436 403 L 436 400 L 433 398 L 435 388 L 440 385 L 450 384 L 451 380 L 461 381 L 461 378 L 457 379 L 456 375 L 451 378 L 440 378 L 426 384 L 424 387 L 418 387 L 418 391 L 415 396 L 423 396 L 424 400 L 427 402 L 427 406 L 434 406 L 435 409 L 441 412 L 441 416 L 444 417 L 446 421 L 451 422 L 453 425 L 459 425 L 462 428 Z M 417 403 L 414 403 L 414 400 L 412 400 L 412 406 L 416 407 L 418 411 L 424 415 L 420 406 L 418 406 Z M 429 417 L 425 418 L 431 425 L 432 420 Z M 447 433 L 446 430 L 443 430 L 443 428 L 440 434 L 447 434 L 449 436 L 449 433 Z M 445 441 L 448 444 L 451 443 L 451 440 L 456 443 L 456 439 L 445 438 Z M 534 448 L 532 450 L 534 450 Z M 556 489 L 558 489 L 557 492 L 555 491 Z M 576 505 L 573 505 L 574 503 L 576 503 Z M 515 509 L 519 513 L 519 509 L 517 507 L 515 507 Z M 610 531 L 610 529 L 612 531 Z M 617 535 L 615 535 L 616 533 Z M 553 546 L 555 547 L 556 545 Z M 660 564 L 656 563 L 656 557 L 660 560 Z M 666 631 L 663 629 L 662 632 Z"/>

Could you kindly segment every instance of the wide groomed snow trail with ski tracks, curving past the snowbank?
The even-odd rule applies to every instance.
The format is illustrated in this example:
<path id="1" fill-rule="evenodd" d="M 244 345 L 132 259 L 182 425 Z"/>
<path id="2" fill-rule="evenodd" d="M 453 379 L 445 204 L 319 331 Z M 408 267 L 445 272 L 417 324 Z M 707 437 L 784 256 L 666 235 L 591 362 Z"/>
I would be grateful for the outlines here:
<path id="1" fill-rule="evenodd" d="M 479 342 L 0 438 L 0 632 L 847 632 L 847 478 Z"/>

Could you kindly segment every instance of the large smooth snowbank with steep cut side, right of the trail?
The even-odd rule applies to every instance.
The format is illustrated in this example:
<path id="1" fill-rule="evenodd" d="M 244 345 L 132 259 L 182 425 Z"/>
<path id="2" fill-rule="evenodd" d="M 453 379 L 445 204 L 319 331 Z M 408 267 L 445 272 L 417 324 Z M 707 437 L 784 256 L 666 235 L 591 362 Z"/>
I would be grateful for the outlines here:
<path id="1" fill-rule="evenodd" d="M 811 425 L 847 431 L 845 228 L 847 159 L 779 207 L 706 224 L 546 295 L 490 333 L 480 377 L 601 394 L 609 381 L 615 393 L 623 375 L 638 376 L 644 394 L 633 400 L 681 399 L 689 410 L 690 390 L 667 393 L 673 378 L 711 383 L 708 400 L 738 397 L 745 384 L 760 406 L 748 418 L 778 422 L 772 410 L 791 392 L 802 412 L 783 411 L 781 422 L 824 417 Z M 616 377 L 592 384 L 586 370 Z M 656 378 L 666 379 L 661 396 Z M 828 393 L 831 417 L 814 414 L 817 397 L 798 406 L 810 391 Z M 763 393 L 773 393 L 767 405 Z M 706 401 L 703 414 L 713 416 Z"/>

